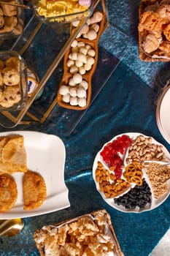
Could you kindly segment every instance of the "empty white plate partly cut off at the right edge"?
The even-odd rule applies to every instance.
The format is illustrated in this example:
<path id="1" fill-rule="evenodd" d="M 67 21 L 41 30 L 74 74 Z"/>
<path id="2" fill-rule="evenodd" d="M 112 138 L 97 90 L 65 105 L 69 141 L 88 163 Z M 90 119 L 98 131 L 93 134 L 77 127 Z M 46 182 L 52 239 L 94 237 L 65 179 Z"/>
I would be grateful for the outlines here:
<path id="1" fill-rule="evenodd" d="M 170 88 L 167 87 L 163 90 L 163 94 L 158 100 L 156 118 L 158 128 L 163 135 L 163 138 L 170 143 L 170 122 L 169 122 L 169 109 L 170 109 Z"/>

